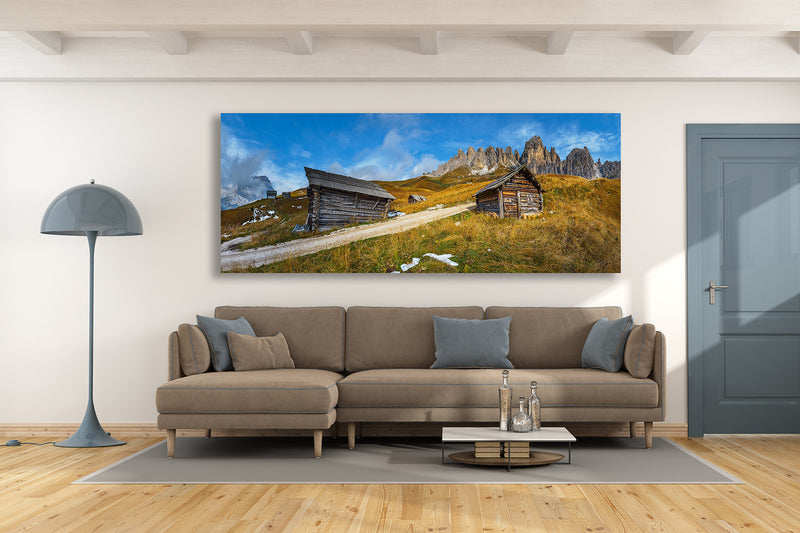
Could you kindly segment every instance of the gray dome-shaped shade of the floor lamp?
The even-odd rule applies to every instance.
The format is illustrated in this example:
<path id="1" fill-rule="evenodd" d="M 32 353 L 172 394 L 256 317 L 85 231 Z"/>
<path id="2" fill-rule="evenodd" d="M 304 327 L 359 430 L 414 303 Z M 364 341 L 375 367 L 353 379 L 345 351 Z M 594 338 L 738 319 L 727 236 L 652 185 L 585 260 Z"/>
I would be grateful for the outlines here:
<path id="1" fill-rule="evenodd" d="M 95 183 L 78 185 L 50 203 L 41 232 L 85 237 L 87 231 L 110 237 L 141 235 L 142 219 L 121 192 Z"/>

